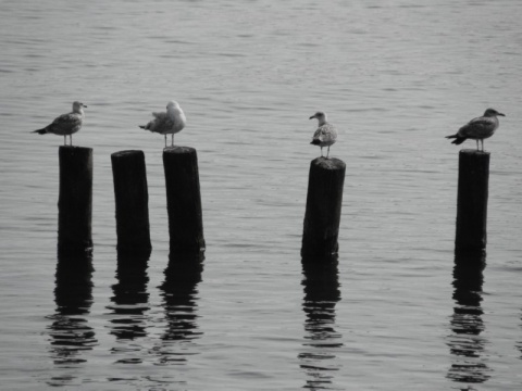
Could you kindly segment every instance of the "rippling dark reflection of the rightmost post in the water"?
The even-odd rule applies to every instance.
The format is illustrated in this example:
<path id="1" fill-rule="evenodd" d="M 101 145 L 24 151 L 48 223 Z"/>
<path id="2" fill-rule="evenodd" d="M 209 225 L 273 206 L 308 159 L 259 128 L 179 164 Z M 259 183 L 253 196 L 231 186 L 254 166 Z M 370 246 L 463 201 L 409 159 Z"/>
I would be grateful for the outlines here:
<path id="1" fill-rule="evenodd" d="M 453 363 L 447 377 L 456 382 L 482 383 L 490 377 L 492 369 L 484 357 L 487 340 L 481 336 L 484 331 L 481 302 L 485 267 L 485 252 L 455 256 L 455 307 L 448 341 Z"/>

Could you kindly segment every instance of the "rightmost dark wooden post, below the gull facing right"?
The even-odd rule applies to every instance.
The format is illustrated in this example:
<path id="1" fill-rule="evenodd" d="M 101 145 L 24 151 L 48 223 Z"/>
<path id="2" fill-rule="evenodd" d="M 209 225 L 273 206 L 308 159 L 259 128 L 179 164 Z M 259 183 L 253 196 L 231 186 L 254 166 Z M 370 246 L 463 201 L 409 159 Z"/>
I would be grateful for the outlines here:
<path id="1" fill-rule="evenodd" d="M 457 252 L 486 249 L 489 153 L 461 150 L 459 153 L 459 187 L 457 194 Z"/>

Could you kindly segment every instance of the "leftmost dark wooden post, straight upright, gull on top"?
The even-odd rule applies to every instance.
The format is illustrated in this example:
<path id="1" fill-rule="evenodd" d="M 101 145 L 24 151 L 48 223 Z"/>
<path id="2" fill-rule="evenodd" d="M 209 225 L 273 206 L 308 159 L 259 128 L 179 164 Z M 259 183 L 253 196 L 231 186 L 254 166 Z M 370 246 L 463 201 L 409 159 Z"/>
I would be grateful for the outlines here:
<path id="1" fill-rule="evenodd" d="M 92 249 L 92 149 L 61 146 L 58 199 L 60 253 Z"/>

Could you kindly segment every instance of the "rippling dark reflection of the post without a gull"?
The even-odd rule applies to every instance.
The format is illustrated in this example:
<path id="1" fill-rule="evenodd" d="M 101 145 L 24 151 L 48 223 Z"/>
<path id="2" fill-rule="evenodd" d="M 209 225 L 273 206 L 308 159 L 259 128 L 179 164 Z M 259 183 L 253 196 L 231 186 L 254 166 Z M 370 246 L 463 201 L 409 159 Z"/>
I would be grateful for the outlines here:
<path id="1" fill-rule="evenodd" d="M 150 250 L 133 254 L 117 252 L 117 283 L 112 286 L 113 304 L 108 308 L 116 315 L 111 319 L 111 333 L 119 340 L 134 340 L 147 336 L 145 313 L 149 310 L 149 258 Z"/>

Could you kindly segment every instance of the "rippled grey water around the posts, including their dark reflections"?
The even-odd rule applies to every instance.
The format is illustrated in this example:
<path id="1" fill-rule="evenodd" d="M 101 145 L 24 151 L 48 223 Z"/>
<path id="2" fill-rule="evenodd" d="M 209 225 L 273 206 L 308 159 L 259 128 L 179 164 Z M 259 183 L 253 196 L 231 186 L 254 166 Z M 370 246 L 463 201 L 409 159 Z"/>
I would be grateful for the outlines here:
<path id="1" fill-rule="evenodd" d="M 521 13 L 2 0 L 2 390 L 520 390 Z M 163 139 L 138 125 L 171 99 L 188 118 L 176 143 L 198 151 L 208 249 L 200 280 L 165 285 Z M 63 139 L 29 133 L 73 100 L 95 165 L 92 269 L 76 279 L 57 274 Z M 488 106 L 507 117 L 485 142 L 487 266 L 453 278 L 460 147 L 444 136 Z M 318 110 L 347 164 L 339 263 L 321 273 L 299 255 Z M 128 149 L 146 154 L 153 251 L 125 272 L 110 155 Z"/>

